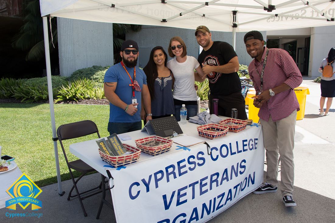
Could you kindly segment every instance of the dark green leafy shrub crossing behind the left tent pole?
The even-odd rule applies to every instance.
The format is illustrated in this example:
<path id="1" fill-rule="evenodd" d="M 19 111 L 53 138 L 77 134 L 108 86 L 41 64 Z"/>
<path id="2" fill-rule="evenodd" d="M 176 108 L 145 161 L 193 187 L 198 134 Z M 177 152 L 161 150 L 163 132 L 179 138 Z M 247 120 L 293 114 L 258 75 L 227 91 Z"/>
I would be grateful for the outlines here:
<path id="1" fill-rule="evenodd" d="M 52 89 L 53 98 L 56 97 L 58 89 L 59 87 Z M 48 86 L 45 85 L 22 84 L 19 87 L 11 88 L 10 91 L 15 99 L 22 99 L 21 102 L 25 101 L 25 103 L 49 99 Z"/>

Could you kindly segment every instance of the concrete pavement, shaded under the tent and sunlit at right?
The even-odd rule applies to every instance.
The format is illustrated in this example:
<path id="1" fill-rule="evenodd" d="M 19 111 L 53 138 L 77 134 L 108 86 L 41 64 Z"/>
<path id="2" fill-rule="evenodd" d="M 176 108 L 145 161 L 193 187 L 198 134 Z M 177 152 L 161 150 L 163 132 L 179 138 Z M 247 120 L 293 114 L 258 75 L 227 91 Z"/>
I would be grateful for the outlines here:
<path id="1" fill-rule="evenodd" d="M 296 122 L 294 137 L 293 199 L 297 206 L 284 206 L 279 185 L 277 193 L 251 193 L 208 222 L 335 222 L 335 102 L 329 116 L 319 116 L 320 84 L 308 79 L 311 78 L 303 81 L 310 90 L 306 97 L 305 118 Z M 88 175 L 79 181 L 78 187 L 90 188 L 92 182 L 98 184 L 99 180 L 100 174 Z M 57 184 L 41 188 L 43 193 L 38 199 L 43 201 L 43 209 L 36 212 L 43 213 L 42 217 L 9 218 L 6 217 L 9 210 L 3 208 L 0 209 L 1 222 L 116 222 L 113 211 L 106 206 L 100 219 L 95 219 L 100 195 L 83 201 L 87 212 L 87 217 L 84 217 L 77 199 L 66 200 L 72 181 L 62 182 L 62 187 L 66 192 L 63 197 L 58 195 Z M 107 193 L 107 200 L 112 202 L 110 193 Z M 15 211 L 25 212 L 19 208 Z"/>

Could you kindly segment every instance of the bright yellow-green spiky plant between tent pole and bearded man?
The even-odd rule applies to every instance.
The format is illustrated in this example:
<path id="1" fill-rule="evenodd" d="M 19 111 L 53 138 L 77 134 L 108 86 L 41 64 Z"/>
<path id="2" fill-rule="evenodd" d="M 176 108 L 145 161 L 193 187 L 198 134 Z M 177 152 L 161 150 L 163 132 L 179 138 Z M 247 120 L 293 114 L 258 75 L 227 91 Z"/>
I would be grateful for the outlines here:
<path id="1" fill-rule="evenodd" d="M 78 99 L 101 99 L 105 96 L 103 87 L 95 87 L 95 82 L 87 78 L 69 81 L 67 85 L 62 85 L 58 94 L 55 103 L 68 99 L 75 101 Z"/>

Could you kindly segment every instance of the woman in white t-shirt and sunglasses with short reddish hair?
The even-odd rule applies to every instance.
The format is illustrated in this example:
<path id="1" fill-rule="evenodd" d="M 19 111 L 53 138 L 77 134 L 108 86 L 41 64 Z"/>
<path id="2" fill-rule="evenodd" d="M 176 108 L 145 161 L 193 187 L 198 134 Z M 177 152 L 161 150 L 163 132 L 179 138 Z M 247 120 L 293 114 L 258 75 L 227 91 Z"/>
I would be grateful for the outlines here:
<path id="1" fill-rule="evenodd" d="M 194 88 L 194 81 L 203 82 L 204 76 L 201 66 L 197 59 L 186 56 L 186 45 L 182 38 L 175 36 L 171 38 L 169 44 L 169 56 L 172 60 L 167 62 L 166 67 L 169 68 L 174 77 L 175 84 L 173 86 L 173 98 L 175 103 L 175 117 L 180 121 L 180 108 L 185 104 L 187 108 L 187 120 L 197 115 L 197 91 Z M 194 72 L 194 69 L 197 72 Z"/>

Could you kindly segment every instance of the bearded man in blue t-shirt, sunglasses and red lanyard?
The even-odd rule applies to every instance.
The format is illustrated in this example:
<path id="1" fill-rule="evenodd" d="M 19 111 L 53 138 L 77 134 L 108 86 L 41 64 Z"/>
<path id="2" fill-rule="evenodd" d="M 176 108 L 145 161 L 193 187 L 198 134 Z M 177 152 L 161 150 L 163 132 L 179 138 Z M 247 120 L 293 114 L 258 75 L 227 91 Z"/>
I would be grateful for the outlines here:
<path id="1" fill-rule="evenodd" d="M 105 97 L 110 101 L 108 132 L 121 134 L 140 130 L 141 99 L 147 111 L 146 121 L 151 118 L 151 100 L 142 69 L 136 67 L 138 46 L 126 40 L 121 46 L 121 63 L 110 67 L 105 74 Z"/>

